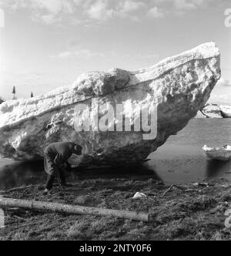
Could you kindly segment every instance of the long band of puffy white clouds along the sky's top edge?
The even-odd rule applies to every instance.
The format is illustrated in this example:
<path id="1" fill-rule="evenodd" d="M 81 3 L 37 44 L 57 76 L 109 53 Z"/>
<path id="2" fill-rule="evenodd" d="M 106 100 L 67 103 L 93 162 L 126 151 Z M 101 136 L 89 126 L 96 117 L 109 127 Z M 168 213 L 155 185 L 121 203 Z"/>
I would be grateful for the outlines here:
<path id="1" fill-rule="evenodd" d="M 222 0 L 1 0 L 1 5 L 11 12 L 24 8 L 36 22 L 51 25 L 65 19 L 80 25 L 110 19 L 159 19 L 192 12 L 212 2 L 219 5 Z"/>

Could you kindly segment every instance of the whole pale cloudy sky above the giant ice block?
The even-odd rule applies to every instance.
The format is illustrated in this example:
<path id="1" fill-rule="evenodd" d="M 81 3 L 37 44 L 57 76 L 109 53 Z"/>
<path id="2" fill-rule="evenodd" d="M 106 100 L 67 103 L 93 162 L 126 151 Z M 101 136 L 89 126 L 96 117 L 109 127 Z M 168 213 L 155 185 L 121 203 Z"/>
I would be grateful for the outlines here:
<path id="1" fill-rule="evenodd" d="M 204 42 L 222 55 L 211 103 L 231 105 L 230 0 L 0 0 L 0 96 L 72 84 L 82 72 L 153 66 Z M 231 15 L 231 12 L 230 12 Z"/>

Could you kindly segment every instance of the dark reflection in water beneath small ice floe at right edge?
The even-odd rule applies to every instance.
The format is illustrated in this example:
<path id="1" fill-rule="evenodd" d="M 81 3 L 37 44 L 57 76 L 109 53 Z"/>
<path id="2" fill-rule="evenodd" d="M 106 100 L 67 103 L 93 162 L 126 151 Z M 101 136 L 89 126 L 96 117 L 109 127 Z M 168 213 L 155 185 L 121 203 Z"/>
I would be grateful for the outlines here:
<path id="1" fill-rule="evenodd" d="M 224 173 L 229 174 L 229 170 L 231 171 L 231 161 L 210 160 L 207 163 L 206 174 L 208 178 L 217 178 Z"/>

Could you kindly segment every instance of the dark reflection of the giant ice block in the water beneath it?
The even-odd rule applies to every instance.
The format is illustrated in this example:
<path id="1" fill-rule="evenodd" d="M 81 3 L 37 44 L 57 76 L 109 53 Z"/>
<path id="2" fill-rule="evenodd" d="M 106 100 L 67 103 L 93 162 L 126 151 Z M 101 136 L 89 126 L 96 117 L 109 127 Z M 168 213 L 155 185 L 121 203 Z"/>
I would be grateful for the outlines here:
<path id="1" fill-rule="evenodd" d="M 82 179 L 115 179 L 129 178 L 160 180 L 156 173 L 145 165 L 136 167 L 102 168 L 92 170 L 73 170 L 66 173 L 67 181 L 75 183 Z M 42 161 L 12 163 L 0 168 L 0 190 L 22 187 L 31 184 L 45 184 L 46 174 Z"/>

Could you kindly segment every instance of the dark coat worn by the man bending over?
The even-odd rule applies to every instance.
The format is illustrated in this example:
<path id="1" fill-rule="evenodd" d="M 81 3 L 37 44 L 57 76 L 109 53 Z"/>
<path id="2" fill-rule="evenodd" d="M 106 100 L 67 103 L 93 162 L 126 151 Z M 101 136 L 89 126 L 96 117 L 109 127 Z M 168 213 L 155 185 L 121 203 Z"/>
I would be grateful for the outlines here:
<path id="1" fill-rule="evenodd" d="M 45 172 L 49 175 L 57 175 L 63 164 L 68 163 L 69 158 L 72 157 L 73 146 L 75 146 L 75 143 L 60 142 L 52 143 L 46 147 L 44 152 Z"/>

